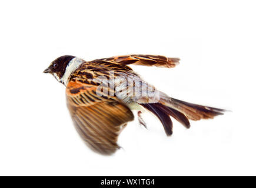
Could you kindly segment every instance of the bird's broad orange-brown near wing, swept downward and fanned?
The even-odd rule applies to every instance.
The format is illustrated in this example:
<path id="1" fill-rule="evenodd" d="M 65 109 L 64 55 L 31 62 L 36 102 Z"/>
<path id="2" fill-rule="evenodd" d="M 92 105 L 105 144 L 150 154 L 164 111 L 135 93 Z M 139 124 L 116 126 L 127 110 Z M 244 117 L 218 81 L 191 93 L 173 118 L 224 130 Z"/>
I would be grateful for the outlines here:
<path id="1" fill-rule="evenodd" d="M 114 153 L 119 148 L 119 133 L 134 119 L 128 106 L 114 96 L 98 96 L 95 85 L 72 80 L 67 85 L 66 95 L 69 112 L 82 139 L 96 152 Z"/>

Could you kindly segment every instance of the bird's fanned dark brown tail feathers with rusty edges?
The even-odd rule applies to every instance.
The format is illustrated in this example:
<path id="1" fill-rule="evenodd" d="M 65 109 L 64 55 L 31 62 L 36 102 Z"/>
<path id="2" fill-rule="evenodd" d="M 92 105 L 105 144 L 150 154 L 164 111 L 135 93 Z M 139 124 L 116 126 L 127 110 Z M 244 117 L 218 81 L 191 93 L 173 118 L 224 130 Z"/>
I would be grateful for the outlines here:
<path id="1" fill-rule="evenodd" d="M 179 123 L 189 128 L 191 120 L 209 119 L 218 115 L 223 115 L 225 110 L 212 108 L 209 106 L 195 105 L 182 100 L 168 98 L 160 100 L 158 103 L 140 104 L 144 108 L 154 113 L 164 126 L 167 136 L 172 135 L 172 120 L 169 116 L 174 117 Z"/>

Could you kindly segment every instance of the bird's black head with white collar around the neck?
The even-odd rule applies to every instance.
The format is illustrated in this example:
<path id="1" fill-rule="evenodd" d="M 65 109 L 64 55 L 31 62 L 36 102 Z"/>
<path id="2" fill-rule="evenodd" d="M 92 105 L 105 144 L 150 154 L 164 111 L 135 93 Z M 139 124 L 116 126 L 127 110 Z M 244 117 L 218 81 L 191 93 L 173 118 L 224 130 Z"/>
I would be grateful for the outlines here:
<path id="1" fill-rule="evenodd" d="M 67 85 L 69 76 L 81 65 L 82 62 L 84 62 L 82 59 L 76 58 L 72 55 L 60 56 L 44 70 L 44 73 L 51 73 L 58 82 Z"/>

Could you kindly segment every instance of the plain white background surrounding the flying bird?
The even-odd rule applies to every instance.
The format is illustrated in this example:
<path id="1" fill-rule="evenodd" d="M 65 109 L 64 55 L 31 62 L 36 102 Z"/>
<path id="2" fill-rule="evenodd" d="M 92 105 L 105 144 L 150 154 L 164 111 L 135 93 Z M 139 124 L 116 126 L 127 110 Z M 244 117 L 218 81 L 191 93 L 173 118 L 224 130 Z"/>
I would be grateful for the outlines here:
<path id="1" fill-rule="evenodd" d="M 1 1 L 0 175 L 256 175 L 254 1 Z M 113 156 L 91 152 L 42 71 L 61 55 L 181 58 L 174 69 L 132 66 L 168 95 L 232 110 L 174 120 L 166 137 L 145 114 Z"/>

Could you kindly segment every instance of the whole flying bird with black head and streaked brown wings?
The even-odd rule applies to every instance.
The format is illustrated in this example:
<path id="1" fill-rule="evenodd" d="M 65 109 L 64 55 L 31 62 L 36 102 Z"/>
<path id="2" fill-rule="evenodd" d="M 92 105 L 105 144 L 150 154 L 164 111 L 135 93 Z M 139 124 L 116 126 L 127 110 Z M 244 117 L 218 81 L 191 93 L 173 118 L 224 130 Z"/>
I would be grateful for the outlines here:
<path id="1" fill-rule="evenodd" d="M 225 110 L 171 98 L 150 85 L 129 65 L 174 68 L 179 58 L 161 55 L 122 55 L 84 61 L 72 55 L 56 58 L 44 70 L 66 86 L 67 106 L 79 135 L 102 155 L 112 155 L 121 147 L 118 136 L 134 120 L 139 123 L 145 111 L 155 115 L 167 136 L 172 135 L 173 117 L 185 127 L 189 120 L 212 119 Z"/>

